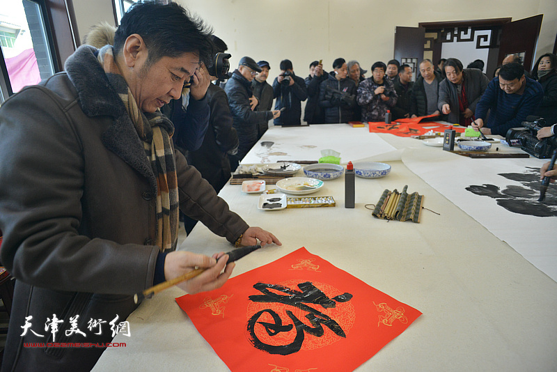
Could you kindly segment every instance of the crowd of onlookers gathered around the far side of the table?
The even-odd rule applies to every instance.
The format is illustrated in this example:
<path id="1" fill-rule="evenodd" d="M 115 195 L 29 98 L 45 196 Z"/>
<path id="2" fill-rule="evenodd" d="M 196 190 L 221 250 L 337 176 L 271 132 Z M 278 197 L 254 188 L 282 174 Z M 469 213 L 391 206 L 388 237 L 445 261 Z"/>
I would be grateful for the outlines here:
<path id="1" fill-rule="evenodd" d="M 220 42 L 217 45 L 222 45 L 219 52 L 224 52 L 226 44 L 215 39 Z M 437 64 L 429 59 L 421 61 L 415 82 L 411 66 L 395 59 L 373 63 L 367 76 L 368 71 L 358 61 L 338 58 L 331 67 L 327 72 L 322 61 L 313 61 L 309 75 L 302 79 L 295 74 L 292 62 L 285 59 L 278 66 L 278 76 L 269 84 L 269 63 L 244 56 L 230 79 L 220 83 L 223 92 L 209 95 L 211 116 L 219 115 L 219 121 L 211 121 L 214 136 L 205 141 L 212 144 L 206 146 L 211 152 L 203 151 L 203 146 L 201 150 L 190 150 L 191 164 L 203 173 L 204 165 L 217 157 L 212 173 L 219 173 L 218 182 L 213 183 L 218 191 L 230 171 L 265 133 L 271 119 L 274 125 L 301 125 L 304 101 L 303 120 L 308 124 L 382 122 L 390 112 L 393 121 L 439 115 L 437 120 L 472 125 L 484 134 L 505 136 L 509 128 L 519 127 L 527 116 L 538 115 L 547 125 L 540 130 L 540 138 L 555 131 L 551 126 L 557 123 L 554 54 L 540 56 L 531 72 L 524 70 L 519 56 L 507 56 L 492 79 L 483 72 L 483 61 L 473 61 L 464 68 L 454 58 L 441 59 Z M 210 91 L 217 89 L 220 88 L 213 85 Z M 221 109 L 215 112 L 217 101 Z M 222 115 L 226 107 L 229 118 L 225 121 Z M 215 144 L 220 146 L 217 153 Z M 203 156 L 196 155 L 200 153 Z"/>

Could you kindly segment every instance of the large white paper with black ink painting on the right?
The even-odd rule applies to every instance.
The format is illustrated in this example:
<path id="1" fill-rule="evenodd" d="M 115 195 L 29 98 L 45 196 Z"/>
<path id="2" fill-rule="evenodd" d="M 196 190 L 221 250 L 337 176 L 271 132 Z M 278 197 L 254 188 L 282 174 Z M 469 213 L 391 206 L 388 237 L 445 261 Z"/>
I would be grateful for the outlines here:
<path id="1" fill-rule="evenodd" d="M 499 187 L 499 192 L 509 186 L 523 186 L 519 181 L 500 174 L 534 173 L 547 160 L 535 157 L 472 159 L 436 148 L 407 148 L 402 153 L 402 162 L 497 238 L 507 242 L 536 268 L 557 281 L 557 217 L 535 217 L 510 212 L 500 206 L 497 199 L 466 190 L 471 185 L 494 185 Z M 539 183 L 536 186 L 531 196 L 532 208 L 535 208 L 540 196 Z M 548 193 L 554 195 L 556 186 L 549 187 L 552 189 Z M 503 198 L 501 196 L 499 199 Z M 473 234 L 473 231 L 470 233 Z"/>

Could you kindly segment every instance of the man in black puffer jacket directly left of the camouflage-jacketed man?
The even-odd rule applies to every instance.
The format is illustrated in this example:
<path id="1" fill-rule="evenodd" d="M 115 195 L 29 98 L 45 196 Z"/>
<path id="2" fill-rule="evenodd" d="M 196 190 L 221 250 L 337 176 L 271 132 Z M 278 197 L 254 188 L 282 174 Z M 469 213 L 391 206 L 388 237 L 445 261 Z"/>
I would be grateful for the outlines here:
<path id="1" fill-rule="evenodd" d="M 325 109 L 325 123 L 348 123 L 354 120 L 356 84 L 348 77 L 345 59 L 335 59 L 333 68 L 319 87 L 319 105 Z"/>

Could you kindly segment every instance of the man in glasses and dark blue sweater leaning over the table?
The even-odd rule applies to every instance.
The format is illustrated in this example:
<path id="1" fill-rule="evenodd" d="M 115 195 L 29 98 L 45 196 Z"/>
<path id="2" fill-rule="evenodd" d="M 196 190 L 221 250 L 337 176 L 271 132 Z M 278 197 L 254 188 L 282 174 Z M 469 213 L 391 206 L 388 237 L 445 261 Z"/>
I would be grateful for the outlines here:
<path id="1" fill-rule="evenodd" d="M 499 77 L 487 85 L 476 106 L 475 130 L 483 134 L 499 134 L 505 137 L 512 127 L 520 127 L 526 116 L 534 115 L 544 97 L 542 85 L 524 76 L 519 63 L 507 63 L 501 67 Z M 489 118 L 485 122 L 487 111 Z"/>

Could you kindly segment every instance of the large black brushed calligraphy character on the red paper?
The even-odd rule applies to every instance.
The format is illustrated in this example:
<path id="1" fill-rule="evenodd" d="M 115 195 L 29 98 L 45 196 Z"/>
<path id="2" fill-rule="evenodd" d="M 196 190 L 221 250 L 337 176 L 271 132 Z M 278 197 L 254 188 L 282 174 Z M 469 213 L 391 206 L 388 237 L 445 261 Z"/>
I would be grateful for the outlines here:
<path id="1" fill-rule="evenodd" d="M 271 309 L 258 311 L 258 313 L 255 313 L 249 319 L 247 326 L 247 330 L 251 336 L 250 341 L 256 348 L 269 352 L 270 354 L 279 355 L 289 355 L 294 352 L 298 352 L 301 349 L 302 343 L 304 343 L 304 332 L 307 332 L 308 334 L 311 334 L 313 336 L 321 337 L 324 334 L 322 325 L 327 326 L 329 330 L 333 331 L 336 335 L 346 337 L 345 332 L 340 327 L 340 325 L 336 323 L 335 320 L 306 304 L 316 304 L 320 305 L 324 309 L 329 309 L 336 307 L 336 302 L 350 301 L 352 299 L 352 295 L 350 293 L 343 293 L 342 295 L 338 295 L 330 299 L 322 292 L 322 290 L 316 288 L 309 281 L 298 284 L 298 288 L 301 291 L 278 284 L 264 283 L 258 283 L 254 285 L 253 288 L 256 288 L 263 294 L 251 295 L 249 296 L 249 300 L 253 302 L 278 302 L 281 304 L 290 305 L 292 307 L 297 307 L 298 309 L 308 312 L 306 314 L 306 318 L 309 320 L 311 325 L 313 325 L 313 327 L 305 325 L 298 318 L 296 318 L 294 313 L 292 313 L 292 311 L 290 310 L 286 310 L 286 314 L 292 320 L 293 324 L 285 325 L 283 325 L 283 320 L 281 319 L 281 317 L 278 316 L 278 314 Z M 284 295 L 281 295 L 280 293 L 284 293 Z M 258 319 L 264 313 L 268 313 L 269 316 L 273 318 L 274 323 L 258 322 Z M 267 343 L 264 343 L 260 341 L 260 339 L 258 339 L 255 330 L 256 324 L 262 325 L 269 336 L 276 336 L 281 332 L 289 332 L 290 330 L 292 330 L 292 327 L 295 327 L 296 337 L 294 341 L 292 341 L 292 343 L 289 343 L 288 345 L 268 345 Z"/>

